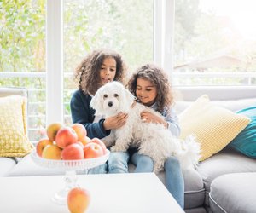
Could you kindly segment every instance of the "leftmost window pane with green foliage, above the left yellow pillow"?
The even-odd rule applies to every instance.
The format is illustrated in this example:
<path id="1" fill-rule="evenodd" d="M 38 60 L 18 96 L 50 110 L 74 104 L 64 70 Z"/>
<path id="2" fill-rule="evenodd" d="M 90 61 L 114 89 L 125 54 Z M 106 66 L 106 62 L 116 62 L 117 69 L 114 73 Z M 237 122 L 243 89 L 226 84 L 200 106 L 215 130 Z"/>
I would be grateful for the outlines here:
<path id="1" fill-rule="evenodd" d="M 28 89 L 29 138 L 45 126 L 45 1 L 0 1 L 0 86 Z"/>

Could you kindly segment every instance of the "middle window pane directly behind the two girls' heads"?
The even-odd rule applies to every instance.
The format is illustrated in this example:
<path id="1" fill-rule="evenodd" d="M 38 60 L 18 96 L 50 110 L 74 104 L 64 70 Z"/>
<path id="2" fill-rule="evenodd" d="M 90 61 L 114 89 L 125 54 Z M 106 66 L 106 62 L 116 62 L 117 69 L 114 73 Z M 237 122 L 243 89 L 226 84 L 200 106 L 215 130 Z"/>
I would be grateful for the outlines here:
<path id="1" fill-rule="evenodd" d="M 70 123 L 69 101 L 75 66 L 93 49 L 118 51 L 129 71 L 153 61 L 154 1 L 66 0 L 64 16 L 64 113 Z"/>

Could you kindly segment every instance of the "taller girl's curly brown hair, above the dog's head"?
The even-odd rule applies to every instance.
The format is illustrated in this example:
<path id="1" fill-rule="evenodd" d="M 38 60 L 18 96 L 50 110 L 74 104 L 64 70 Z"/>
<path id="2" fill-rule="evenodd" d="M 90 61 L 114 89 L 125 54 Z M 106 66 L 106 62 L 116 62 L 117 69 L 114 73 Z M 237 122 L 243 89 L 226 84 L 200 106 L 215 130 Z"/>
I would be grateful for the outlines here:
<path id="1" fill-rule="evenodd" d="M 100 69 L 106 58 L 113 58 L 116 61 L 114 80 L 125 83 L 126 66 L 121 55 L 111 49 L 97 49 L 87 55 L 75 70 L 75 79 L 84 94 L 95 95 L 102 86 Z"/>

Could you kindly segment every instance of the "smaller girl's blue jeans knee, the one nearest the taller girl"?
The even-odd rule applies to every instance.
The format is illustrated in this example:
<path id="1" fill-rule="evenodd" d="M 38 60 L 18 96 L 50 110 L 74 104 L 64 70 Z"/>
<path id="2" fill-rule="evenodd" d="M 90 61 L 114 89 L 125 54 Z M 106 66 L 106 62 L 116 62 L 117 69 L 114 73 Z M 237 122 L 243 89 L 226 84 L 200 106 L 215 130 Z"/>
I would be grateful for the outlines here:
<path id="1" fill-rule="evenodd" d="M 134 172 L 152 172 L 154 168 L 153 160 L 147 155 L 134 153 L 131 156 L 131 163 L 136 166 Z"/>

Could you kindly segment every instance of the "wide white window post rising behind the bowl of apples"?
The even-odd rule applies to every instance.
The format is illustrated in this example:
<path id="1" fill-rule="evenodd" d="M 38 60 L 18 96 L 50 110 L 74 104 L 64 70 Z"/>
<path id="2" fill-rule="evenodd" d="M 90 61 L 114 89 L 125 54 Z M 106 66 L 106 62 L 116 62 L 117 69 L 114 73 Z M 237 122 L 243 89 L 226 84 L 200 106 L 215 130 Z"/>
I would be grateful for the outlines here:
<path id="1" fill-rule="evenodd" d="M 47 1 L 46 124 L 63 122 L 62 1 Z"/>

